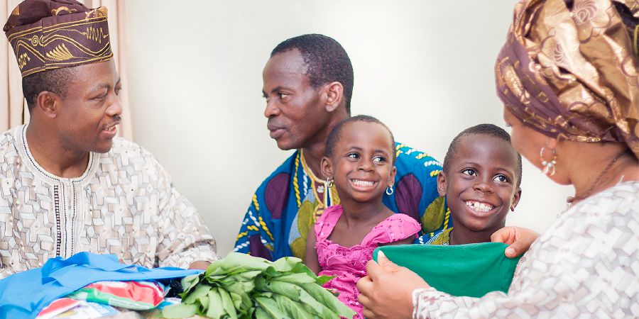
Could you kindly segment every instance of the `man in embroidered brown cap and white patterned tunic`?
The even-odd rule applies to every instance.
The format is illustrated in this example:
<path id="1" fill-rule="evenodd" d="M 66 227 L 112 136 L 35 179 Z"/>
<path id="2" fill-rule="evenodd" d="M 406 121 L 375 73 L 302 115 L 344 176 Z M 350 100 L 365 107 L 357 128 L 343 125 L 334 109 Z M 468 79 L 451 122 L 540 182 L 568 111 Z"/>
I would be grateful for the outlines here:
<path id="1" fill-rule="evenodd" d="M 4 31 L 31 121 L 0 134 L 0 279 L 81 251 L 146 267 L 217 259 L 163 167 L 116 137 L 121 84 L 107 9 L 26 0 Z"/>

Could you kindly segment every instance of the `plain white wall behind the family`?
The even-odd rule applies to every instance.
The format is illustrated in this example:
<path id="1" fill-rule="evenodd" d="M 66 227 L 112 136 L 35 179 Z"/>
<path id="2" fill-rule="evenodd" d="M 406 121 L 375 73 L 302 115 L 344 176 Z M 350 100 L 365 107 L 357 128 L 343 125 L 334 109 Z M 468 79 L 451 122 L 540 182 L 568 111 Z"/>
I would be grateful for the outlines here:
<path id="1" fill-rule="evenodd" d="M 493 77 L 514 0 L 126 1 L 133 138 L 168 169 L 229 252 L 260 182 L 290 152 L 268 136 L 262 69 L 273 47 L 305 33 L 349 53 L 352 113 L 443 160 L 479 123 L 503 125 Z M 570 188 L 524 163 L 508 224 L 545 231 Z"/>

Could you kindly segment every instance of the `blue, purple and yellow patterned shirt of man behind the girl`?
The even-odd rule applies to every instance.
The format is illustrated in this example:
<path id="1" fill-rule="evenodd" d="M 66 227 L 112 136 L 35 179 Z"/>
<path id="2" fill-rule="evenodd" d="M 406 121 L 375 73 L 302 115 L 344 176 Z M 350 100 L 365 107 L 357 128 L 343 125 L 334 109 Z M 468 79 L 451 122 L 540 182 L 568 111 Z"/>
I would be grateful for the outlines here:
<path id="1" fill-rule="evenodd" d="M 383 203 L 395 213 L 411 216 L 422 225 L 420 238 L 427 242 L 441 230 L 452 227 L 452 220 L 437 194 L 437 174 L 442 167 L 434 158 L 396 143 L 397 175 L 394 192 L 384 194 Z M 235 252 L 266 259 L 295 256 L 304 259 L 307 233 L 324 212 L 325 201 L 339 204 L 334 187 L 326 194 L 324 180 L 307 167 L 301 150 L 295 151 L 275 169 L 253 195 L 242 221 Z M 429 207 L 430 206 L 430 207 Z"/>

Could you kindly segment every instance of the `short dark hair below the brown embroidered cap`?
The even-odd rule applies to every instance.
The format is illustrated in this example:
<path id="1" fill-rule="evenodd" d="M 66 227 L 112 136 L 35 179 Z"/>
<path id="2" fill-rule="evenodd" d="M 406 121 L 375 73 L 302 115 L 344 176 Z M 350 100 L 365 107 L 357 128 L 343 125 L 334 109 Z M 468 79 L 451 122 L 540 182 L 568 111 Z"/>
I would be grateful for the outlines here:
<path id="1" fill-rule="evenodd" d="M 29 111 L 35 106 L 38 94 L 42 91 L 50 91 L 59 96 L 66 97 L 68 85 L 75 77 L 75 67 L 62 67 L 36 72 L 22 78 L 22 94 L 27 101 Z"/>

